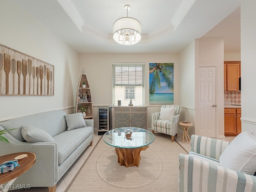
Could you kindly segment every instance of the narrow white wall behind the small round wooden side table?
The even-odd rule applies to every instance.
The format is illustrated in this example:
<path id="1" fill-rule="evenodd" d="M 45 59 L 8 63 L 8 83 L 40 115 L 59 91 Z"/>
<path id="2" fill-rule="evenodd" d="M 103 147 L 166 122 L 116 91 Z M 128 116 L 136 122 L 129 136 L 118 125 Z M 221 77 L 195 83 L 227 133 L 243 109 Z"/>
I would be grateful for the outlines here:
<path id="1" fill-rule="evenodd" d="M 189 135 L 195 134 L 195 41 L 179 53 L 179 105 L 182 106 L 180 120 L 192 122 Z M 181 126 L 180 126 L 180 129 Z M 183 131 L 183 130 L 182 130 Z"/>

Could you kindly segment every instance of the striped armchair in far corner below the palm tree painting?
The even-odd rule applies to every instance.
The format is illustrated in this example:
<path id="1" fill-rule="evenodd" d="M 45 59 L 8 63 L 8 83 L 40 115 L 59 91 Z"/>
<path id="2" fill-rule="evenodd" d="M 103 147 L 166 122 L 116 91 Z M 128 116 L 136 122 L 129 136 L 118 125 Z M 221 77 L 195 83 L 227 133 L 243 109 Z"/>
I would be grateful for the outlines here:
<path id="1" fill-rule="evenodd" d="M 174 136 L 178 134 L 181 106 L 178 105 L 162 105 L 163 108 L 175 108 L 174 116 L 171 120 L 159 119 L 160 112 L 152 113 L 151 126 L 152 133 L 154 131 L 161 132 L 172 136 L 172 142 L 174 142 Z"/>

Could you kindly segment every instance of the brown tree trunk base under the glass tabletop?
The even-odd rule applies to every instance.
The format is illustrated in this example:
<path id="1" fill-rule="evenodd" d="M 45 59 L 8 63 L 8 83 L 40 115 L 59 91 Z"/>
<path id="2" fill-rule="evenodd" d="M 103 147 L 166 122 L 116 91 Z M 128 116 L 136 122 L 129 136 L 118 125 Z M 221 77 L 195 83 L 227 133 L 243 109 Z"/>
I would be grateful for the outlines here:
<path id="1" fill-rule="evenodd" d="M 139 166 L 140 164 L 140 151 L 144 151 L 149 145 L 140 148 L 116 148 L 118 156 L 118 163 L 126 167 Z"/>

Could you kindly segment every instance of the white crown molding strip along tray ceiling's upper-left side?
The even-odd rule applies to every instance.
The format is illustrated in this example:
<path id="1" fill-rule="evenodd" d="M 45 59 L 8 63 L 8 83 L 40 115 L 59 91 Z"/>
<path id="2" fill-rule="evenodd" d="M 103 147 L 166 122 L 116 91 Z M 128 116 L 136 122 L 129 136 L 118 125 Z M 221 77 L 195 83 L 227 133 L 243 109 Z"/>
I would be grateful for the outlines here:
<path id="1" fill-rule="evenodd" d="M 68 14 L 70 19 L 74 22 L 76 27 L 82 32 L 82 26 L 84 25 L 84 20 L 76 6 L 73 4 L 72 0 L 57 0 L 60 6 L 64 9 L 64 11 Z"/>

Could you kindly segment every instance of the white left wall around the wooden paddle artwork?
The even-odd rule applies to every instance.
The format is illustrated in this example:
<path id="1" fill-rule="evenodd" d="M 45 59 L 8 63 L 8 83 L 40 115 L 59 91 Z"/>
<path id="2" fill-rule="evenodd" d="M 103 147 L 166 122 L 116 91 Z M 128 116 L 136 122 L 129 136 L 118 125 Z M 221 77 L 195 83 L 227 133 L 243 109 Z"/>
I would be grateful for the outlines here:
<path id="1" fill-rule="evenodd" d="M 0 96 L 0 121 L 55 109 L 74 112 L 78 54 L 15 3 L 1 1 L 0 18 L 0 44 L 54 65 L 54 96 Z"/>

